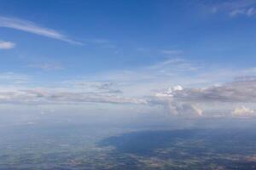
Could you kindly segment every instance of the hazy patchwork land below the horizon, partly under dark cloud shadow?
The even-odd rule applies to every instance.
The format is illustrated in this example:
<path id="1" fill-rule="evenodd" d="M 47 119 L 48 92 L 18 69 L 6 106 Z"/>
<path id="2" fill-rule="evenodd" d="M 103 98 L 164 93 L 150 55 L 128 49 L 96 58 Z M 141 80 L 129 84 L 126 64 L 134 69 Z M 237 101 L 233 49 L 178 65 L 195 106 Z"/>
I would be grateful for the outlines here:
<path id="1" fill-rule="evenodd" d="M 256 169 L 253 128 L 1 130 L 0 169 Z"/>

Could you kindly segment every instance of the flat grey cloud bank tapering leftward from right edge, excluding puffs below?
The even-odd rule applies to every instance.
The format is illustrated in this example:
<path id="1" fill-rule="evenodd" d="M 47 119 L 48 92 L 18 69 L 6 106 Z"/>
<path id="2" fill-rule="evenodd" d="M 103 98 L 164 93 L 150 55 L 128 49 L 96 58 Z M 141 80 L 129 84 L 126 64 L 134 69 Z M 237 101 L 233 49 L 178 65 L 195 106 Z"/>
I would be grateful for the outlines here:
<path id="1" fill-rule="evenodd" d="M 161 93 L 173 99 L 195 102 L 255 102 L 256 80 L 228 82 L 210 88 L 183 88 Z M 160 95 L 160 94 L 158 94 Z"/>

